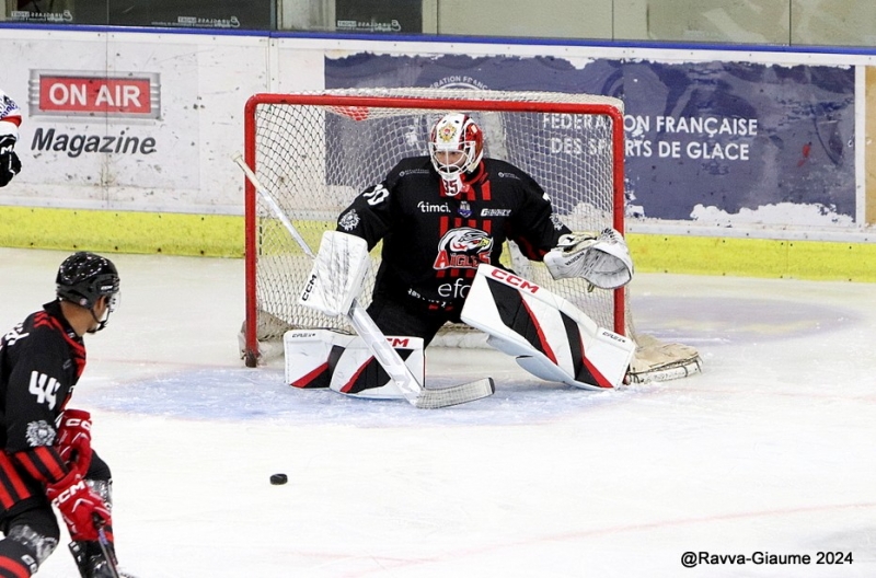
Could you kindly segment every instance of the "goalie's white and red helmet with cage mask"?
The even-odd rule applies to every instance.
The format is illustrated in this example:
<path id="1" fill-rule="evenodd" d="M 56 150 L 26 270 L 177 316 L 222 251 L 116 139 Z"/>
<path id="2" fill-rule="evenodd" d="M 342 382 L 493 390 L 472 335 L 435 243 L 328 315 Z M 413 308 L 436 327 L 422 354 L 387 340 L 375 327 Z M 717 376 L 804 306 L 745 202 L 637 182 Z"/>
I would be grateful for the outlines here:
<path id="1" fill-rule="evenodd" d="M 449 154 L 456 152 L 462 154 Z M 484 157 L 484 134 L 469 115 L 446 114 L 435 123 L 429 135 L 429 155 L 442 178 L 471 173 Z"/>

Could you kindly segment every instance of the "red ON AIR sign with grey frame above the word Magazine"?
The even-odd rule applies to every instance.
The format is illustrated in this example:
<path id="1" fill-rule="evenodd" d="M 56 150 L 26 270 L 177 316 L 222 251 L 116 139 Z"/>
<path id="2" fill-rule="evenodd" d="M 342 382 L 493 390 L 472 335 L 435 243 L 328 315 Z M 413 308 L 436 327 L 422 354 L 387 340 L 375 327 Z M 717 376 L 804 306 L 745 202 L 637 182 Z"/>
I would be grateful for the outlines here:
<path id="1" fill-rule="evenodd" d="M 159 76 L 31 72 L 31 116 L 159 118 Z"/>

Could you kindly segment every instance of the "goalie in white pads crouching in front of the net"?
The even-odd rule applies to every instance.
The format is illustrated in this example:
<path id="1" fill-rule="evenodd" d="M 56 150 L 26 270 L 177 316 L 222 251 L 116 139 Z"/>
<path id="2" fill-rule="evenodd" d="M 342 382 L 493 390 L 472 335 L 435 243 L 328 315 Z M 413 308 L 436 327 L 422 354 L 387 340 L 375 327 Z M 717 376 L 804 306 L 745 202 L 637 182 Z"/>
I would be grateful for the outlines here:
<path id="1" fill-rule="evenodd" d="M 428 157 L 403 159 L 342 211 L 336 231 L 323 238 L 316 273 L 300 302 L 328 315 L 344 314 L 361 289 L 368 251 L 379 241 L 382 263 L 367 312 L 388 336 L 422 338 L 419 355 L 445 323 L 462 321 L 486 332 L 491 345 L 544 379 L 600 389 L 616 386 L 625 377 L 635 347 L 631 339 L 597 327 L 567 301 L 500 264 L 503 244 L 514 241 L 529 259 L 544 261 L 556 279 L 584 277 L 611 289 L 632 278 L 622 236 L 611 229 L 573 233 L 530 175 L 484 158 L 483 134 L 470 116 L 442 116 L 431 129 Z M 307 362 L 319 355 L 296 355 L 287 346 L 290 383 L 396 396 L 367 349 L 353 348 L 348 338 L 330 338 L 328 361 L 320 366 L 334 371 L 327 383 L 323 369 L 295 359 Z M 339 348 L 345 348 L 342 356 Z M 354 349 L 360 361 L 350 363 Z M 408 366 L 417 367 L 411 359 Z M 296 363 L 300 368 L 289 371 Z"/>

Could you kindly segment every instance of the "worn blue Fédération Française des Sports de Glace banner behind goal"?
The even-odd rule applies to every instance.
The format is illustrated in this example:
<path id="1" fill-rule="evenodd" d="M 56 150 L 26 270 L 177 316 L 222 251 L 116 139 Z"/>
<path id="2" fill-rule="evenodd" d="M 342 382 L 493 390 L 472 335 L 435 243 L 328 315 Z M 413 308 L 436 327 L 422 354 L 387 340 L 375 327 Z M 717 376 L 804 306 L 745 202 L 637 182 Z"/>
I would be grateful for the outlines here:
<path id="1" fill-rule="evenodd" d="M 855 217 L 854 69 L 752 62 L 356 54 L 327 89 L 479 88 L 625 103 L 631 217 L 848 226 Z M 557 128 L 575 153 L 574 128 Z"/>

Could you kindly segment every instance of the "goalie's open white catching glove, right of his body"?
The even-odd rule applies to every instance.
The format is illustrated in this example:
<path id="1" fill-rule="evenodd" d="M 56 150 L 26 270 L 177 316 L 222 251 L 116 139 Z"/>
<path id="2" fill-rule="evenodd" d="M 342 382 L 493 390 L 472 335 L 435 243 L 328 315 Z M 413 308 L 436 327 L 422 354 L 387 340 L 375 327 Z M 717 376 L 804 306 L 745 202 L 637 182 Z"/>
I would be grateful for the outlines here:
<path id="1" fill-rule="evenodd" d="M 614 229 L 565 234 L 544 255 L 544 264 L 554 279 L 581 277 L 600 289 L 616 289 L 633 278 L 630 248 Z"/>

